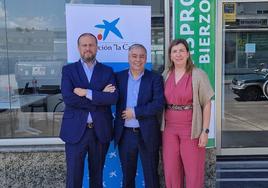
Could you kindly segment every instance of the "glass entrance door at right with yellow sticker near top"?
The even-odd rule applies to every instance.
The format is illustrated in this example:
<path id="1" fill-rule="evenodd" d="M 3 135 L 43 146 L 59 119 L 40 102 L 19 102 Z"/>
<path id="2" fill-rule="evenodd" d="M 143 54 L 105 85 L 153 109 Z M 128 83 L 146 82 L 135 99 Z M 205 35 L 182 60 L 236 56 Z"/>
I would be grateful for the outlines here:
<path id="1" fill-rule="evenodd" d="M 218 154 L 268 154 L 268 1 L 222 0 L 218 7 Z"/>

